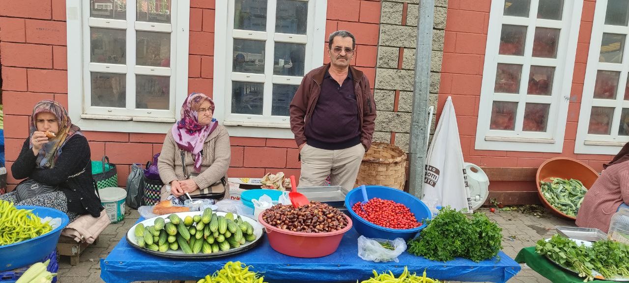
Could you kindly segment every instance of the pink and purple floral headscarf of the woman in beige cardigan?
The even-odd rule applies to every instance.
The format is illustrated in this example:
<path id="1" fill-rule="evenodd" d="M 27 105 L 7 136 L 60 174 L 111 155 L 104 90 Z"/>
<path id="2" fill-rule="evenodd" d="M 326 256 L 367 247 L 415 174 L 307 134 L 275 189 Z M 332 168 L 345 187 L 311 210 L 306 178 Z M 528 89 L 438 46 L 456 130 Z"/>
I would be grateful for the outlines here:
<path id="1" fill-rule="evenodd" d="M 199 115 L 194 109 L 199 109 L 199 106 L 206 100 L 209 101 L 211 111 L 214 113 L 214 101 L 211 98 L 202 93 L 192 92 L 181 106 L 181 120 L 172 126 L 172 137 L 177 146 L 182 150 L 191 152 L 194 156 L 194 170 L 196 172 L 201 171 L 203 143 L 218 126 L 218 121 L 214 118 L 209 125 L 199 124 Z"/>

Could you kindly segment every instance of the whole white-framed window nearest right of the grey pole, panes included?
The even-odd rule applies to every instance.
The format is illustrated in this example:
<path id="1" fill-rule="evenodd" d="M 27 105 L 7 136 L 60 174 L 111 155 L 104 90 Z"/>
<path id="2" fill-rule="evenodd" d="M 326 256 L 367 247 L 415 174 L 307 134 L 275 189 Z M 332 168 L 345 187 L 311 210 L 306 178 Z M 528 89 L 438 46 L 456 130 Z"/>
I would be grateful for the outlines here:
<path id="1" fill-rule="evenodd" d="M 492 1 L 477 150 L 562 152 L 583 1 Z"/>

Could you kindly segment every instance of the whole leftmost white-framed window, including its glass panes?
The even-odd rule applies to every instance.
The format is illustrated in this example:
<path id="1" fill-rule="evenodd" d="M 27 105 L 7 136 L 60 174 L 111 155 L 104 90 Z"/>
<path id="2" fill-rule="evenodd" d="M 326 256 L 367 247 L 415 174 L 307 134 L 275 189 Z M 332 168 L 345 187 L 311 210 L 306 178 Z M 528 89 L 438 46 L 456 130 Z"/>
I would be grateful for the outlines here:
<path id="1" fill-rule="evenodd" d="M 66 0 L 66 7 L 72 122 L 164 133 L 187 95 L 189 0 Z"/>

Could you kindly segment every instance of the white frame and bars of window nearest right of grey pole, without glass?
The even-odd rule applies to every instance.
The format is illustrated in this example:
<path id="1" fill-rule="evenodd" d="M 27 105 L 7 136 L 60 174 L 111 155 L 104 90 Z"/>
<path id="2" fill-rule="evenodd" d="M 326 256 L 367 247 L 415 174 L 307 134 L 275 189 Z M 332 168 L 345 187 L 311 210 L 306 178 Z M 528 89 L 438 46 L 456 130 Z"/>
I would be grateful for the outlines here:
<path id="1" fill-rule="evenodd" d="M 565 134 L 565 121 L 572 87 L 572 70 L 576 55 L 583 0 L 564 1 L 562 21 L 536 19 L 538 0 L 531 2 L 529 18 L 503 16 L 504 1 L 492 1 L 487 31 L 487 46 L 476 128 L 476 150 L 507 150 L 527 152 L 562 152 Z M 526 45 L 524 56 L 498 55 L 501 27 L 503 24 L 526 25 Z M 561 28 L 557 58 L 532 58 L 535 27 Z M 522 75 L 521 94 L 494 94 L 496 65 L 520 64 Z M 552 96 L 526 95 L 530 65 L 555 67 Z M 518 102 L 515 131 L 490 130 L 493 101 Z M 525 103 L 550 103 L 546 132 L 521 131 Z"/>

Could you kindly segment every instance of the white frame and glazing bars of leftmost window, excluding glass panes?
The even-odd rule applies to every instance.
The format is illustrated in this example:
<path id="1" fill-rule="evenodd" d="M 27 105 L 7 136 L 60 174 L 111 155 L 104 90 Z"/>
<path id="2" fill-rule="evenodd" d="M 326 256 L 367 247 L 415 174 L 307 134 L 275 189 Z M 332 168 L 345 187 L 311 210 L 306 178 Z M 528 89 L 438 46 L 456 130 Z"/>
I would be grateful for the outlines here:
<path id="1" fill-rule="evenodd" d="M 179 119 L 179 107 L 187 96 L 188 85 L 188 52 L 189 52 L 189 24 L 190 24 L 190 1 L 172 0 L 170 24 L 155 23 L 155 28 L 160 31 L 173 29 L 170 45 L 170 68 L 164 67 L 135 67 L 135 30 L 133 22 L 135 13 L 128 13 L 126 20 L 89 19 L 89 2 L 81 0 L 66 0 L 67 14 L 67 57 L 68 57 L 68 112 L 72 123 L 80 126 L 83 130 L 90 131 L 117 131 L 126 133 L 165 133 L 172 127 L 173 121 Z M 135 11 L 135 3 L 128 1 Z M 129 11 L 130 9 L 128 9 Z M 135 77 L 136 74 L 170 75 L 170 102 L 168 110 L 148 110 L 147 109 L 123 109 L 123 108 L 92 108 L 89 96 L 89 72 L 104 71 L 107 65 L 89 63 L 89 26 L 102 26 L 104 28 L 128 28 L 127 31 L 127 64 L 126 66 L 109 66 L 106 72 L 127 74 Z M 138 28 L 148 29 L 152 24 L 140 24 Z M 130 36 L 131 35 L 131 36 Z M 133 48 L 130 48 L 132 46 Z M 89 66 L 89 67 L 88 67 Z M 134 68 L 135 67 L 135 68 Z M 101 70 L 102 69 L 102 70 Z M 135 84 L 129 83 L 127 79 L 126 87 L 128 92 L 135 92 Z M 131 80 L 133 82 L 133 80 Z M 86 94 L 86 95 L 84 95 Z M 135 97 L 134 97 L 135 98 Z M 130 100 L 130 99 L 128 99 Z M 128 106 L 134 106 L 135 99 L 127 101 Z M 87 109 L 91 109 L 91 113 Z M 175 111 L 176 109 L 176 111 Z M 119 114 L 113 117 L 111 114 Z M 103 115 L 105 114 L 105 115 Z M 131 116 L 130 116 L 131 114 Z M 152 117 L 151 117 L 152 116 Z"/>

